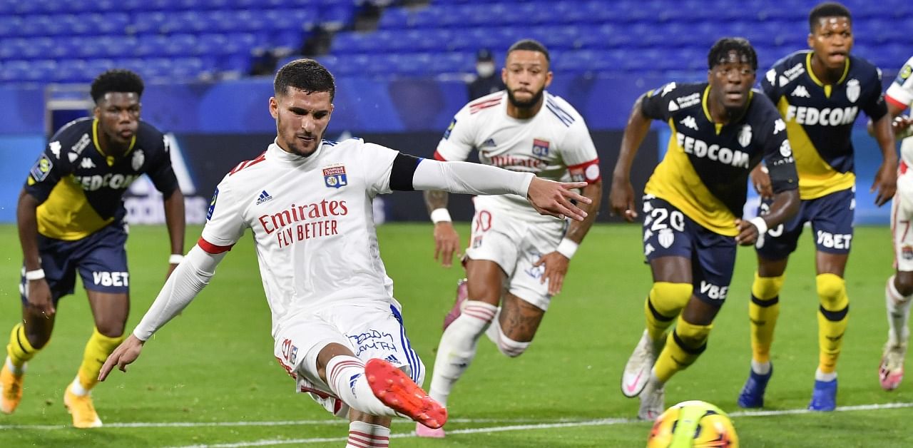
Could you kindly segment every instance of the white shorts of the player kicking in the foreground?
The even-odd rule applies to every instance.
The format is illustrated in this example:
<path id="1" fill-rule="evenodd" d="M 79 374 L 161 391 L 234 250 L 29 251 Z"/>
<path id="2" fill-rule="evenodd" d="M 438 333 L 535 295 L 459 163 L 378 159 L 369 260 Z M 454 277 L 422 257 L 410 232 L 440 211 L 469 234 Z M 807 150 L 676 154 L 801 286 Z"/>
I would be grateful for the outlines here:
<path id="1" fill-rule="evenodd" d="M 317 372 L 317 355 L 327 344 L 352 349 L 358 359 L 384 359 L 403 370 L 419 386 L 425 381 L 425 365 L 406 338 L 399 304 L 371 301 L 321 309 L 295 319 L 276 335 L 274 354 L 279 364 L 296 380 L 296 391 L 308 392 L 327 411 L 339 417 L 348 406 L 339 401 Z"/>

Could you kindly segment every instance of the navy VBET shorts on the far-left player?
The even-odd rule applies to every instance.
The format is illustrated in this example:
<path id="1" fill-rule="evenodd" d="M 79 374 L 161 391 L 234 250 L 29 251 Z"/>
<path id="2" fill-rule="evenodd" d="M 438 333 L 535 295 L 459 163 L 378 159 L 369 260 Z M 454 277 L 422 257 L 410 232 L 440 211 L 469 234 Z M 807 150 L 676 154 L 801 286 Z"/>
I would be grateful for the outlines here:
<path id="1" fill-rule="evenodd" d="M 64 241 L 38 234 L 38 253 L 45 271 L 47 286 L 57 304 L 60 297 L 73 294 L 76 273 L 82 285 L 92 291 L 129 293 L 127 273 L 127 231 L 123 223 L 110 224 L 98 232 L 76 241 Z M 19 289 L 26 303 L 25 269 Z"/>

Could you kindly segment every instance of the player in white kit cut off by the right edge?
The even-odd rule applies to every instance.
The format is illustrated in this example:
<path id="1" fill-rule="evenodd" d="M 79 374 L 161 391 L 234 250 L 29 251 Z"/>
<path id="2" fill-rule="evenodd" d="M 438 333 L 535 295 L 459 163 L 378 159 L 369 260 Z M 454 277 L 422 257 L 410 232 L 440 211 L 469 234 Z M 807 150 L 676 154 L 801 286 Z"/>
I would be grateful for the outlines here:
<path id="1" fill-rule="evenodd" d="M 891 204 L 891 234 L 894 240 L 894 265 L 897 272 L 887 279 L 887 343 L 878 367 L 878 380 L 885 391 L 893 391 L 904 378 L 904 358 L 909 339 L 908 320 L 913 302 L 913 127 L 901 113 L 913 104 L 913 57 L 910 57 L 897 79 L 887 88 L 887 112 L 895 117 L 893 127 L 900 143 L 900 166 L 897 170 L 897 193 Z"/>

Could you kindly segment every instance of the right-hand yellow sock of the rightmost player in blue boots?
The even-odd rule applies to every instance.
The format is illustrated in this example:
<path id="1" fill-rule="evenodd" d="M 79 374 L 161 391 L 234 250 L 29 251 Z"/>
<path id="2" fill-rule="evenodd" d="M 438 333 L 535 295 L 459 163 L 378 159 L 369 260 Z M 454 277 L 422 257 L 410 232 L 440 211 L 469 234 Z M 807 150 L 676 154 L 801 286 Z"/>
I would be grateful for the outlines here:
<path id="1" fill-rule="evenodd" d="M 815 277 L 818 298 L 818 370 L 822 373 L 834 373 L 837 358 L 844 344 L 847 313 L 850 300 L 846 297 L 846 282 L 834 274 L 821 274 Z"/>

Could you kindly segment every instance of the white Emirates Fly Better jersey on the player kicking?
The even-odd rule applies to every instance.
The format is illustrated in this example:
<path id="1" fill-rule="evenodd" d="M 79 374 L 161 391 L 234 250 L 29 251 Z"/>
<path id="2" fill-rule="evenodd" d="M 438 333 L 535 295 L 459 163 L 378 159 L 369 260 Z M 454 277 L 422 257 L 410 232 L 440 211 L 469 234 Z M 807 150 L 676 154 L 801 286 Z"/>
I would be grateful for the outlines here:
<path id="1" fill-rule="evenodd" d="M 372 201 L 391 192 L 397 153 L 351 139 L 322 141 L 305 158 L 273 143 L 219 183 L 198 245 L 225 252 L 253 231 L 273 336 L 305 311 L 365 299 L 394 303 Z"/>

